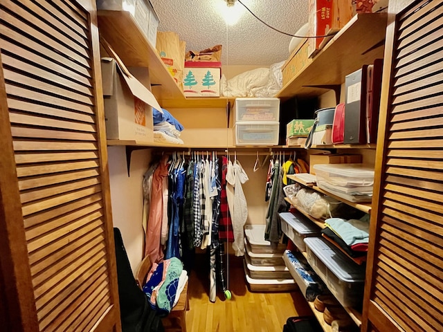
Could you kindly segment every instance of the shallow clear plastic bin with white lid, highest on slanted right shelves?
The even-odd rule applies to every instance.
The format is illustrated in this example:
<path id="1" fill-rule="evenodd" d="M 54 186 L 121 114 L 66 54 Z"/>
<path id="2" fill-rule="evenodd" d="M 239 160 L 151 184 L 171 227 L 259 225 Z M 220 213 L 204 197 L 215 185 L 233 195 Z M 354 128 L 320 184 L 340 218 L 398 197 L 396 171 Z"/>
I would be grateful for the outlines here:
<path id="1" fill-rule="evenodd" d="M 374 168 L 364 164 L 317 164 L 317 185 L 351 202 L 370 202 Z"/>

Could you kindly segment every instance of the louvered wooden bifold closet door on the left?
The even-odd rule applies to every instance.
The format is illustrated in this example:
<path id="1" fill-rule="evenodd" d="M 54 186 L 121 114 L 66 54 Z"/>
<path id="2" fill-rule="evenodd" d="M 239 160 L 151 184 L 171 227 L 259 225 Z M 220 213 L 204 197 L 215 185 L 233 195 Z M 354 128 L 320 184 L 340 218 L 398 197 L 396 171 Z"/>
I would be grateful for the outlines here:
<path id="1" fill-rule="evenodd" d="M 0 15 L 39 330 L 118 326 L 95 1 L 1 1 Z"/>

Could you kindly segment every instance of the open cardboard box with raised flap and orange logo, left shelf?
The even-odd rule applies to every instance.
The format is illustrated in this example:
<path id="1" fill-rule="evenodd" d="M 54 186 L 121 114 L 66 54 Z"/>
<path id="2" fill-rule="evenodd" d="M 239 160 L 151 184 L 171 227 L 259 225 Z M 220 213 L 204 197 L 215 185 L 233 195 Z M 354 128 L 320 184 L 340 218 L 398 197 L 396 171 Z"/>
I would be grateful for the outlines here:
<path id="1" fill-rule="evenodd" d="M 149 71 L 136 75 L 142 79 Z M 161 107 L 151 91 L 115 59 L 102 59 L 102 77 L 107 139 L 154 141 L 152 107 Z M 149 82 L 149 77 L 142 80 Z"/>

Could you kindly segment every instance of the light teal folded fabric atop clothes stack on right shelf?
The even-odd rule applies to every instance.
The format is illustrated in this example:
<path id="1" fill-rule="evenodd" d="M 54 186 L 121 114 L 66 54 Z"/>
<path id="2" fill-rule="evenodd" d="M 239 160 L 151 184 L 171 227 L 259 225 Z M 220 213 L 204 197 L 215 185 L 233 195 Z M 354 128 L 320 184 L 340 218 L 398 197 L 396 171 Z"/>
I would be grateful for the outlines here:
<path id="1" fill-rule="evenodd" d="M 345 241 L 347 246 L 369 242 L 369 223 L 358 219 L 345 220 L 329 218 L 325 220 L 330 228 Z"/>

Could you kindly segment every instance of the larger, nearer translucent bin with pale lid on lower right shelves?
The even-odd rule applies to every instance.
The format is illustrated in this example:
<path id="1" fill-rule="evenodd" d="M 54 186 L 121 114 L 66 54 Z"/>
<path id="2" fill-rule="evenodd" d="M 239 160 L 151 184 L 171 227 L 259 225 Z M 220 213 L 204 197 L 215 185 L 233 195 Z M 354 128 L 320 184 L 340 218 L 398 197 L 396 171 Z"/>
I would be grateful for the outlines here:
<path id="1" fill-rule="evenodd" d="M 360 306 L 365 266 L 357 265 L 332 243 L 320 237 L 305 238 L 307 261 L 342 306 Z"/>

